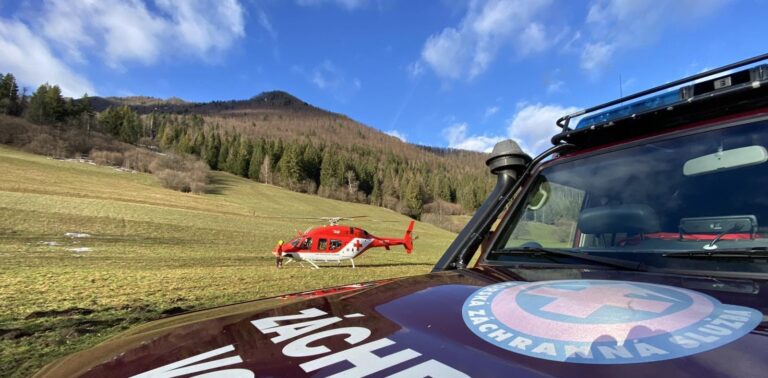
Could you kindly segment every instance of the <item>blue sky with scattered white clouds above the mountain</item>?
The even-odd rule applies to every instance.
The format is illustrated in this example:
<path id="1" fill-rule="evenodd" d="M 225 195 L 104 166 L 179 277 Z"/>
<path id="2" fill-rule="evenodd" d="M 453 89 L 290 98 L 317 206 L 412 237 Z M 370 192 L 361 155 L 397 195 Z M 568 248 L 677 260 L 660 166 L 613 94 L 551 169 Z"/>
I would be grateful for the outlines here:
<path id="1" fill-rule="evenodd" d="M 0 72 L 78 97 L 279 89 L 412 143 L 538 152 L 570 111 L 766 52 L 766 14 L 759 0 L 0 0 Z"/>

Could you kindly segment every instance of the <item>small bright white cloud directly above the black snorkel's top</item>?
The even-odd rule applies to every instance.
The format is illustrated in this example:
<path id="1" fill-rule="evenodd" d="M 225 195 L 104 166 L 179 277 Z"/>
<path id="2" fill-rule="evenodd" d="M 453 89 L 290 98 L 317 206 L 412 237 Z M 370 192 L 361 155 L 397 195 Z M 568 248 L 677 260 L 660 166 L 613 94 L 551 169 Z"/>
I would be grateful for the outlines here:
<path id="1" fill-rule="evenodd" d="M 517 113 L 508 121 L 507 135 L 529 154 L 538 154 L 547 149 L 552 136 L 561 131 L 555 121 L 578 110 L 573 106 L 520 104 Z"/>

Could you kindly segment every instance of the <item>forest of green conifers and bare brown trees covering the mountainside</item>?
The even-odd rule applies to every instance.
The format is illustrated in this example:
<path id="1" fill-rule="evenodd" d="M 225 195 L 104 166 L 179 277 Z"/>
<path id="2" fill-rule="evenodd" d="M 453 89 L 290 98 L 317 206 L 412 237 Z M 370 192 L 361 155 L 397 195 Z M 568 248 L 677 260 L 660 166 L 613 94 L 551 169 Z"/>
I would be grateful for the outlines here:
<path id="1" fill-rule="evenodd" d="M 0 112 L 58 134 L 101 133 L 155 153 L 194 156 L 213 170 L 417 219 L 427 212 L 470 213 L 493 185 L 483 154 L 407 144 L 285 92 L 211 103 L 87 94 L 69 99 L 49 84 L 20 93 L 6 74 L 0 76 Z M 0 142 L 8 143 L 2 136 Z M 86 144 L 57 154 L 103 153 L 105 147 L 93 149 Z"/>

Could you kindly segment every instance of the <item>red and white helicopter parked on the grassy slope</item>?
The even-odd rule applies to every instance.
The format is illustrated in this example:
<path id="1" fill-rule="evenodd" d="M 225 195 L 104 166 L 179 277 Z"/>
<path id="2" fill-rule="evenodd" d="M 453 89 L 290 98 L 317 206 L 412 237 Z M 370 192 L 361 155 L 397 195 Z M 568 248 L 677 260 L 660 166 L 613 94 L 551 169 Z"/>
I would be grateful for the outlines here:
<path id="1" fill-rule="evenodd" d="M 402 245 L 407 253 L 413 251 L 414 222 L 408 225 L 402 239 L 374 236 L 359 227 L 342 226 L 342 220 L 363 217 L 323 217 L 328 226 L 310 228 L 288 243 L 280 244 L 272 252 L 278 259 L 286 259 L 286 264 L 292 261 L 306 261 L 315 269 L 318 262 L 338 262 L 349 260 L 355 267 L 355 257 L 371 248 L 384 247 L 389 250 L 392 246 Z M 280 265 L 280 264 L 278 264 Z"/>

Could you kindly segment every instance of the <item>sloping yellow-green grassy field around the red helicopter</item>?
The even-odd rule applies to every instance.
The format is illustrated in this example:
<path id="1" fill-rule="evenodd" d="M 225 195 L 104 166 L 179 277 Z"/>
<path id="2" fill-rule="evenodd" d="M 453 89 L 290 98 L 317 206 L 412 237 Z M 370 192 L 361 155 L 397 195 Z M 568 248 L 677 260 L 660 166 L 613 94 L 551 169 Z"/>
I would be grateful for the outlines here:
<path id="1" fill-rule="evenodd" d="M 151 175 L 4 146 L 0 173 L 0 376 L 28 376 L 132 325 L 182 311 L 426 273 L 454 237 L 417 223 L 412 255 L 372 250 L 357 269 L 277 270 L 270 253 L 276 240 L 318 223 L 259 216 L 367 215 L 355 225 L 397 237 L 408 219 L 219 172 L 211 194 L 183 194 Z"/>

